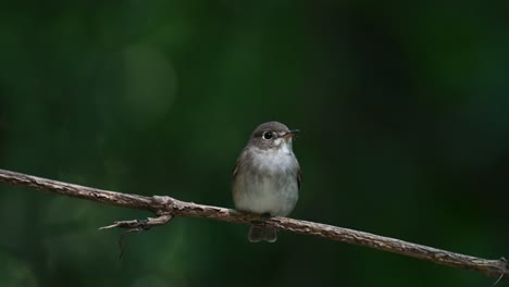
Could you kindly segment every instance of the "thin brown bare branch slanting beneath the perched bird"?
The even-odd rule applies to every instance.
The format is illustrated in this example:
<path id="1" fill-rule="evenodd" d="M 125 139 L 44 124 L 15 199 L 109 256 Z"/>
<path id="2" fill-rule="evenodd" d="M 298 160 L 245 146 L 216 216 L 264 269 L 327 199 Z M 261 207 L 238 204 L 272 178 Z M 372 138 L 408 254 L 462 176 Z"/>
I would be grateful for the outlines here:
<path id="1" fill-rule="evenodd" d="M 174 216 L 206 217 L 238 224 L 271 226 L 281 230 L 312 235 L 325 239 L 413 257 L 451 267 L 472 270 L 483 273 L 489 277 L 509 278 L 509 264 L 504 258 L 500 258 L 499 260 L 486 260 L 332 225 L 298 221 L 288 217 L 271 217 L 268 220 L 261 220 L 260 215 L 257 214 L 179 201 L 171 197 L 126 195 L 4 170 L 0 170 L 0 183 L 46 190 L 53 194 L 87 199 L 110 205 L 146 210 L 158 216 L 156 219 L 149 217 L 144 221 L 120 221 L 112 225 L 101 227 L 100 229 L 120 227 L 126 228 L 127 232 L 144 232 L 151 227 L 166 224 Z"/>

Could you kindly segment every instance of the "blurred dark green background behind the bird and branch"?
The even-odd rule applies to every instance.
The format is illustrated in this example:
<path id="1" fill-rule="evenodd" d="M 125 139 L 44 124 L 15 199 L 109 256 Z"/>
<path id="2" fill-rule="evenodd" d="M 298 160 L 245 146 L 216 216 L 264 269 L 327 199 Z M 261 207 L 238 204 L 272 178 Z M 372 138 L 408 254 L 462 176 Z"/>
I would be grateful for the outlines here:
<path id="1" fill-rule="evenodd" d="M 509 4 L 4 1 L 0 169 L 232 207 L 252 129 L 301 130 L 293 217 L 509 255 Z M 401 255 L 0 185 L 0 286 L 489 286 Z M 505 286 L 506 283 L 501 283 Z"/>

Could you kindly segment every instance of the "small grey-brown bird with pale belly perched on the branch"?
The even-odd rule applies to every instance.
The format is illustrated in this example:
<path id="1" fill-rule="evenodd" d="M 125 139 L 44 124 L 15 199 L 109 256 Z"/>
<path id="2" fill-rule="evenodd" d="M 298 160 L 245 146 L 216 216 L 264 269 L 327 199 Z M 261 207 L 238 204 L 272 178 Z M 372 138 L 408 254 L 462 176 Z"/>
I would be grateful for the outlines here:
<path id="1" fill-rule="evenodd" d="M 299 198 L 302 176 L 291 150 L 291 139 L 298 129 L 278 122 L 259 125 L 237 159 L 233 172 L 233 200 L 240 211 L 262 216 L 286 216 Z M 251 242 L 274 242 L 274 228 L 251 226 Z"/>

